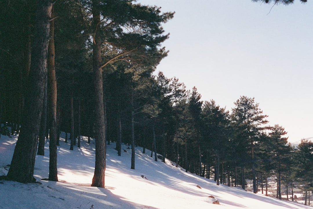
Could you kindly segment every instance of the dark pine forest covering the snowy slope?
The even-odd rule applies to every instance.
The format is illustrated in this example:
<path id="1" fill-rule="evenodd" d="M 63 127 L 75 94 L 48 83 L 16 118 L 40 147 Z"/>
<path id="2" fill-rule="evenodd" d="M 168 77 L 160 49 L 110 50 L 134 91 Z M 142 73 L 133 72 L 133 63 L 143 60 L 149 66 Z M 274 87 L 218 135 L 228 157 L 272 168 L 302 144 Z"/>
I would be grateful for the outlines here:
<path id="1" fill-rule="evenodd" d="M 1 1 L 0 132 L 19 134 L 5 178 L 33 182 L 35 155 L 49 138 L 49 180 L 58 181 L 63 131 L 70 150 L 80 136 L 95 138 L 92 186 L 104 187 L 105 146 L 115 142 L 117 155 L 128 144 L 130 169 L 140 146 L 217 185 L 245 189 L 250 179 L 254 193 L 261 186 L 267 194 L 276 175 L 279 199 L 282 185 L 313 191 L 313 142 L 292 146 L 254 98 L 241 96 L 228 111 L 155 72 L 168 55 L 162 24 L 174 14 L 131 0 Z"/>

